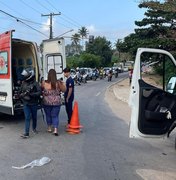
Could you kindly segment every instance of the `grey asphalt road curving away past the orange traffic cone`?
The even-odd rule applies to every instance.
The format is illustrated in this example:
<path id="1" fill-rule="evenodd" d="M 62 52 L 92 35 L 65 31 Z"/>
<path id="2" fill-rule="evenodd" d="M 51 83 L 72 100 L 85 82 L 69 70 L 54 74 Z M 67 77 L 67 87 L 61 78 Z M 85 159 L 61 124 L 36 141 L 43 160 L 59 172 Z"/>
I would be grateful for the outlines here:
<path id="1" fill-rule="evenodd" d="M 38 113 L 39 134 L 31 134 L 25 140 L 20 138 L 23 117 L 1 116 L 0 180 L 140 180 L 140 174 L 146 169 L 163 172 L 176 168 L 174 163 L 169 164 L 174 161 L 173 144 L 168 143 L 170 148 L 165 151 L 158 141 L 152 144 L 128 138 L 128 124 L 118 117 L 119 107 L 124 107 L 120 108 L 121 114 L 127 113 L 125 106 L 107 95 L 108 87 L 124 76 L 119 74 L 112 82 L 106 79 L 75 86 L 79 119 L 84 126 L 79 135 L 65 132 L 64 107 L 60 112 L 58 137 L 46 132 L 41 112 Z M 23 170 L 12 168 L 44 156 L 51 158 L 49 164 Z"/>

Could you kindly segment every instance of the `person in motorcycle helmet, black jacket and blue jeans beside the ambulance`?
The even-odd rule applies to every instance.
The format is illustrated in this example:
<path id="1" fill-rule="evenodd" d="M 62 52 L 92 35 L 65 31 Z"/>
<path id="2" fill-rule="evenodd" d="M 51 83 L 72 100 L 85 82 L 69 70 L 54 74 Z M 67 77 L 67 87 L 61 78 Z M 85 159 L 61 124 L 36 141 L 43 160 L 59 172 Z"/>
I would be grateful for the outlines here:
<path id="1" fill-rule="evenodd" d="M 25 115 L 25 133 L 21 135 L 22 138 L 29 137 L 30 119 L 32 117 L 32 131 L 37 133 L 37 109 L 41 95 L 41 88 L 39 83 L 35 80 L 35 73 L 33 68 L 26 68 L 22 71 L 23 82 L 21 86 L 21 98 L 23 101 L 23 110 Z"/>

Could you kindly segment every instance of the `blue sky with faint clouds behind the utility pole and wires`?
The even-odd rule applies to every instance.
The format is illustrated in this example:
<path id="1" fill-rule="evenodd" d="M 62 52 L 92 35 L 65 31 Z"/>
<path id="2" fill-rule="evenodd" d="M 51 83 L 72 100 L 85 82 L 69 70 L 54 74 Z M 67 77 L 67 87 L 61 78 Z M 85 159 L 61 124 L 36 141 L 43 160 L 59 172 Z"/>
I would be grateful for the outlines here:
<path id="1" fill-rule="evenodd" d="M 134 32 L 134 22 L 142 20 L 145 11 L 138 7 L 139 0 L 0 0 L 0 4 L 0 33 L 14 29 L 14 38 L 38 44 L 50 34 L 50 18 L 42 15 L 60 13 L 52 16 L 53 37 L 64 36 L 70 43 L 70 37 L 86 27 L 88 35 L 105 37 L 113 46 Z"/>

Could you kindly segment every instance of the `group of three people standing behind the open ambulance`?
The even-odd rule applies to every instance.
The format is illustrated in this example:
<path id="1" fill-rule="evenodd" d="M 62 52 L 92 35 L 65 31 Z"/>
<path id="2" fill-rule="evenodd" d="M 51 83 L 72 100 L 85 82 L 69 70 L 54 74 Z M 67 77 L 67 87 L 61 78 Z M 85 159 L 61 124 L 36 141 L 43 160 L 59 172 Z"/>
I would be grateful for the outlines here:
<path id="1" fill-rule="evenodd" d="M 23 76 L 21 87 L 21 99 L 23 102 L 23 110 L 25 115 L 25 129 L 21 135 L 22 138 L 29 138 L 30 121 L 32 119 L 32 132 L 37 134 L 37 110 L 44 109 L 47 132 L 58 136 L 59 112 L 61 107 L 61 92 L 64 93 L 65 109 L 68 116 L 68 124 L 70 123 L 74 101 L 74 81 L 70 76 L 70 69 L 63 70 L 64 76 L 67 78 L 66 83 L 58 80 L 56 71 L 50 69 L 47 80 L 43 80 L 41 84 L 35 80 L 35 72 L 32 68 L 24 69 L 21 73 Z"/>

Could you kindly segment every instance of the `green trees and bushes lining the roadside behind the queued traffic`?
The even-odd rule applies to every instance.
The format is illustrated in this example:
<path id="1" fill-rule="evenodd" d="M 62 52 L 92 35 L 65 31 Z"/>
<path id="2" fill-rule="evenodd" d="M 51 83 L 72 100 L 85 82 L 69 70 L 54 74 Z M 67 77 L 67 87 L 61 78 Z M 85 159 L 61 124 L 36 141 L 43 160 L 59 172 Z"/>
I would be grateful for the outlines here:
<path id="1" fill-rule="evenodd" d="M 106 37 L 89 35 L 85 27 L 79 29 L 72 35 L 72 43 L 66 46 L 68 66 L 100 68 L 125 64 L 134 61 L 139 47 L 164 49 L 176 57 L 176 2 L 141 0 L 138 7 L 146 9 L 144 18 L 134 22 L 137 26 L 134 33 L 123 40 L 117 39 L 115 49 Z M 160 66 L 156 66 L 155 71 L 162 73 Z"/>

